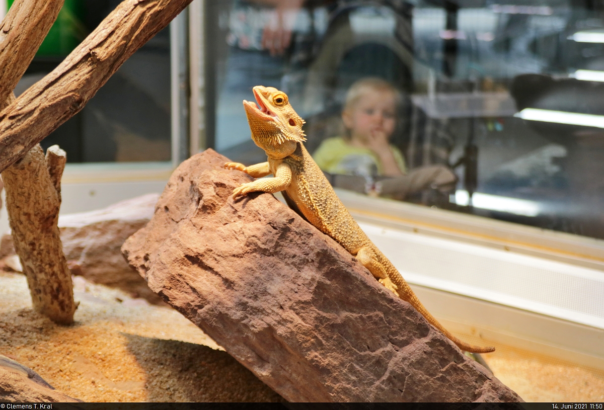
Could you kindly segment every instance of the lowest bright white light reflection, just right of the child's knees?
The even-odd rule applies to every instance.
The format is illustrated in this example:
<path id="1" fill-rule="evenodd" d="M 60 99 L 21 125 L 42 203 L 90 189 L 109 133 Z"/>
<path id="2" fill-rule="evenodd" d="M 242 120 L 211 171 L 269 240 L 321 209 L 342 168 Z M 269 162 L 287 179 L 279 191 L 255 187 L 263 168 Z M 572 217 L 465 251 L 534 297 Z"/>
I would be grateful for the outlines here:
<path id="1" fill-rule="evenodd" d="M 467 207 L 470 203 L 470 196 L 467 191 L 457 190 L 454 195 L 451 195 L 451 202 Z M 480 192 L 472 195 L 472 206 L 484 210 L 507 212 L 523 216 L 537 216 L 539 214 L 539 204 L 535 201 L 483 194 Z"/>

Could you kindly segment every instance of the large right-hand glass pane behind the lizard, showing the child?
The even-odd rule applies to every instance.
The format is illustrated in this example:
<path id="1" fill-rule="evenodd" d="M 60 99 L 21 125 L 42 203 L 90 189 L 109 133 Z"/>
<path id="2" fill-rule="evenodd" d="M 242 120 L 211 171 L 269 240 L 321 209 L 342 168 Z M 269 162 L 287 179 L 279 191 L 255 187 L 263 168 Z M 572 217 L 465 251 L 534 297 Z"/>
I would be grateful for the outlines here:
<path id="1" fill-rule="evenodd" d="M 274 86 L 335 186 L 604 238 L 601 2 L 233 0 L 206 19 L 208 132 L 234 161 L 266 161 L 241 101 Z"/>

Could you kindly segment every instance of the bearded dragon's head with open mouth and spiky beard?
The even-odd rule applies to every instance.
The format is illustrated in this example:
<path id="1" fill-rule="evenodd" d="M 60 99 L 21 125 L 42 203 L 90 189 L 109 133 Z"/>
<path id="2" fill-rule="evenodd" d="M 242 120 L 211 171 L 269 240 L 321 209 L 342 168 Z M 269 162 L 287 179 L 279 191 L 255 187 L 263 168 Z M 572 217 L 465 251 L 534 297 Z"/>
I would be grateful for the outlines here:
<path id="1" fill-rule="evenodd" d="M 289 105 L 288 96 L 273 87 L 255 86 L 256 104 L 243 100 L 254 143 L 272 158 L 291 155 L 297 143 L 306 141 L 300 118 Z"/>

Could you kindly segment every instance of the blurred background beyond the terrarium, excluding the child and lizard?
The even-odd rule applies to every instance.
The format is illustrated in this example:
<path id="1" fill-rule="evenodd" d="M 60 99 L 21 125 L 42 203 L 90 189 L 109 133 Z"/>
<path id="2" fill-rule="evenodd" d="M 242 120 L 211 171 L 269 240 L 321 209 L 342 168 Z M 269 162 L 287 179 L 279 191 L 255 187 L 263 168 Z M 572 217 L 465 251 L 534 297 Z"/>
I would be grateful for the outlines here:
<path id="1" fill-rule="evenodd" d="M 16 94 L 118 3 L 66 0 Z M 442 165 L 458 178 L 449 192 L 426 187 L 397 199 L 604 239 L 603 7 L 207 1 L 179 16 L 172 40 L 167 28 L 137 51 L 42 145 L 59 144 L 72 164 L 176 164 L 206 147 L 261 162 L 241 101 L 265 85 L 288 93 L 313 153 L 341 134 L 350 85 L 380 77 L 402 95 L 391 143 L 408 171 Z"/>

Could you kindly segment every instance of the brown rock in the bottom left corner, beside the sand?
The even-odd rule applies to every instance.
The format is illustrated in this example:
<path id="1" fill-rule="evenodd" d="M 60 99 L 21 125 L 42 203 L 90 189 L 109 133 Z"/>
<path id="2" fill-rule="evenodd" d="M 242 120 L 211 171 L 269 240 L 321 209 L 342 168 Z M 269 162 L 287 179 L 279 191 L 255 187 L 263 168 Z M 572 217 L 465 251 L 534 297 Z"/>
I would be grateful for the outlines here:
<path id="1" fill-rule="evenodd" d="M 55 390 L 35 371 L 0 354 L 0 402 L 80 401 Z"/>

